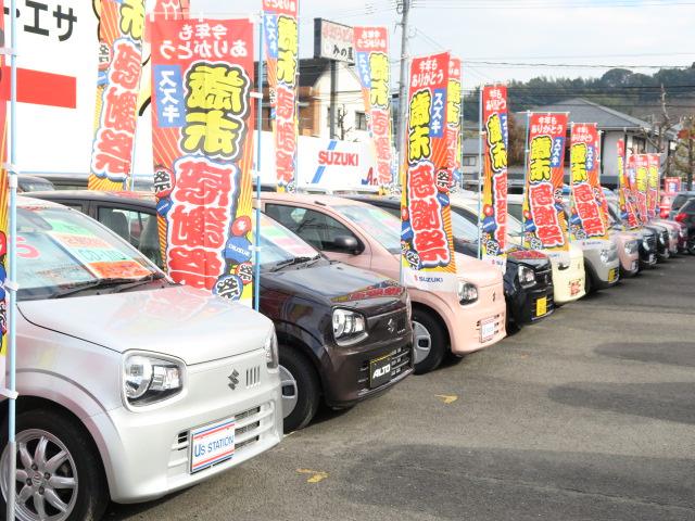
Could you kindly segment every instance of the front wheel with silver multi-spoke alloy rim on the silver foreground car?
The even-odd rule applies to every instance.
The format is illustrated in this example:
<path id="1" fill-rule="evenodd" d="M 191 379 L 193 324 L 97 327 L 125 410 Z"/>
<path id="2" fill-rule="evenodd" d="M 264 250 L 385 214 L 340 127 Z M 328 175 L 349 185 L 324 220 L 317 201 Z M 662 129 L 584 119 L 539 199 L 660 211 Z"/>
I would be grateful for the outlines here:
<path id="1" fill-rule="evenodd" d="M 7 423 L 2 452 L 2 511 L 8 497 Z M 101 459 L 76 421 L 52 410 L 16 417 L 16 519 L 20 521 L 99 520 L 109 501 Z"/>

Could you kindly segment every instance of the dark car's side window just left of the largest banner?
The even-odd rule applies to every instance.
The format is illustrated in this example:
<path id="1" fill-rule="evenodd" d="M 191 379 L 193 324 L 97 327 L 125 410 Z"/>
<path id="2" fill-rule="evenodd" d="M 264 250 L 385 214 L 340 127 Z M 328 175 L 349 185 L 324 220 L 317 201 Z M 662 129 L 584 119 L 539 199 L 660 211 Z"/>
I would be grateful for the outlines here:
<path id="1" fill-rule="evenodd" d="M 98 220 L 162 267 L 162 253 L 157 232 L 156 216 L 135 209 L 101 206 Z"/>

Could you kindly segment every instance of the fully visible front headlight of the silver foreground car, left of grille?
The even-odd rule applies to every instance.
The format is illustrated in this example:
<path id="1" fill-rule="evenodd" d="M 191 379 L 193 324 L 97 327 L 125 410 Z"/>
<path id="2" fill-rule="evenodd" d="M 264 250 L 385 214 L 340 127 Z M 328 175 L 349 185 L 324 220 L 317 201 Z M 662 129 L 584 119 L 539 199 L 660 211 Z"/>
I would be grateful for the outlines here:
<path id="1" fill-rule="evenodd" d="M 148 355 L 130 355 L 123 369 L 123 390 L 128 404 L 151 405 L 184 389 L 182 364 Z"/>

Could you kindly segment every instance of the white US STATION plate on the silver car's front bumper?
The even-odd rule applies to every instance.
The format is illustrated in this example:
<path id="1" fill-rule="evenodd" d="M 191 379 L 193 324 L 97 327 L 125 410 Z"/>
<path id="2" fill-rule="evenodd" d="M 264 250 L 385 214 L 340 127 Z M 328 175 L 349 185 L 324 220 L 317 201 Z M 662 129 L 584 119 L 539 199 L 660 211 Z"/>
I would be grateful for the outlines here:
<path id="1" fill-rule="evenodd" d="M 191 474 L 233 457 L 235 428 L 236 420 L 232 416 L 191 430 Z"/>

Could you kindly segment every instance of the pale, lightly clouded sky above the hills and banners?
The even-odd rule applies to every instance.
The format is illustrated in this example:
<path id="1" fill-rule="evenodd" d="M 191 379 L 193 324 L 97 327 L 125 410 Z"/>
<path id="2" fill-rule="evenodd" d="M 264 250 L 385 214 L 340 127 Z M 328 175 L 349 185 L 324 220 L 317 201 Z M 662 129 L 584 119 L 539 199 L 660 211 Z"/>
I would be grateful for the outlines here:
<path id="1" fill-rule="evenodd" d="M 346 25 L 388 26 L 395 88 L 401 42 L 401 30 L 396 29 L 399 1 L 300 2 L 301 58 L 313 54 L 314 17 Z M 695 0 L 410 2 L 408 54 L 448 50 L 460 56 L 466 89 L 535 76 L 595 77 L 610 66 L 639 66 L 633 71 L 652 74 L 658 66 L 690 66 L 695 62 Z M 261 0 L 191 0 L 191 14 L 223 15 L 230 4 L 233 12 L 229 14 L 237 15 L 257 12 Z"/>

